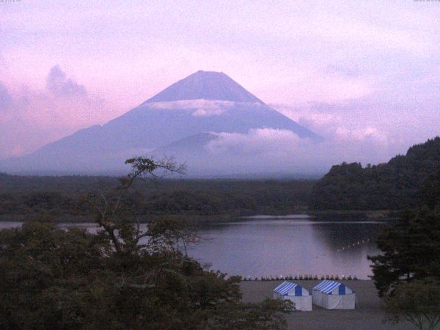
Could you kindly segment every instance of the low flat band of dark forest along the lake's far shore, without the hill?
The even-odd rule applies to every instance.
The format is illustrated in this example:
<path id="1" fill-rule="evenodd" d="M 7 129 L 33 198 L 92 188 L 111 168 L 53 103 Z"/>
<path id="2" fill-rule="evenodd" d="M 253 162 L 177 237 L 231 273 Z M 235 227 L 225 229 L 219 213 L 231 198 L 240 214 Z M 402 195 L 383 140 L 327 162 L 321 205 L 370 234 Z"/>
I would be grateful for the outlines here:
<path id="1" fill-rule="evenodd" d="M 139 181 L 124 198 L 140 215 L 173 214 L 194 222 L 252 214 L 292 214 L 307 208 L 314 181 L 168 178 Z M 115 177 L 0 175 L 0 220 L 50 214 L 56 221 L 90 221 L 85 197 L 107 195 Z M 144 217 L 142 217 L 144 216 Z"/>

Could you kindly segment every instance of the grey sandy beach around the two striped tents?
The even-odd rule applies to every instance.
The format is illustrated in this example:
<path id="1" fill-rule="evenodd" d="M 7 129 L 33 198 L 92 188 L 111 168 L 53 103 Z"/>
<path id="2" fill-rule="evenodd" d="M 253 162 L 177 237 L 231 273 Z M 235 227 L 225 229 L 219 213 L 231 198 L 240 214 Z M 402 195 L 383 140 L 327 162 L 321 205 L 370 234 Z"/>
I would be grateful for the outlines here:
<path id="1" fill-rule="evenodd" d="M 272 298 L 272 290 L 283 281 L 243 281 L 243 301 L 257 302 Z M 311 292 L 320 281 L 294 281 Z M 377 297 L 373 281 L 340 281 L 353 289 L 357 295 L 358 307 L 354 310 L 327 310 L 313 305 L 313 311 L 294 311 L 286 314 L 288 329 L 301 330 L 410 330 L 415 329 L 408 322 L 399 325 L 384 323 L 386 318 L 380 298 Z"/>

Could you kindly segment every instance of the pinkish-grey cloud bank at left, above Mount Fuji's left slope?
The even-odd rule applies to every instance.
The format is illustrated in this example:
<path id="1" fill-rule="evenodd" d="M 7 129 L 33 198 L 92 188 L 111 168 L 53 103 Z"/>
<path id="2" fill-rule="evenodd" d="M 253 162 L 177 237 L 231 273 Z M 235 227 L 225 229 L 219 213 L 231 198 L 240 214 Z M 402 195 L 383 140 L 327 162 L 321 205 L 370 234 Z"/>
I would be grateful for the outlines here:
<path id="1" fill-rule="evenodd" d="M 83 85 L 66 76 L 56 65 L 45 89 L 0 82 L 0 159 L 30 153 L 115 117 L 113 104 L 89 95 Z"/>

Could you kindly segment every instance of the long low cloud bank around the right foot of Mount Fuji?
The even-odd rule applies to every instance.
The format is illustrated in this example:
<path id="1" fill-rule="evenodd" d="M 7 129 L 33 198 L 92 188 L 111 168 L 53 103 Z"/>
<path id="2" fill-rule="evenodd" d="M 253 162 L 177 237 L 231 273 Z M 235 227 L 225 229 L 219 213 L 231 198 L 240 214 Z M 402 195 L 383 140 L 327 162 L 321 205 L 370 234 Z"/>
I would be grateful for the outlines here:
<path id="1" fill-rule="evenodd" d="M 176 155 L 187 162 L 190 175 L 273 173 L 274 175 L 322 175 L 334 164 L 378 164 L 393 154 L 386 135 L 373 127 L 342 131 L 325 142 L 301 139 L 283 129 L 251 129 L 248 133 L 213 133 L 217 139 L 201 153 Z M 191 173 L 192 172 L 192 173 Z"/>

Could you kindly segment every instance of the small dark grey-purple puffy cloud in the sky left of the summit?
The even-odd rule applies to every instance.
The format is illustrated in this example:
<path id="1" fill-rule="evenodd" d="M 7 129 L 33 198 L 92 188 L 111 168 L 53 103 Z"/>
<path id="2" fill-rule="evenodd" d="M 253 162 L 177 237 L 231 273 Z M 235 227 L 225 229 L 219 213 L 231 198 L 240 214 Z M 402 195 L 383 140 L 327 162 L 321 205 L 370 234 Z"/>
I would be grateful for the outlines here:
<path id="1" fill-rule="evenodd" d="M 46 78 L 47 89 L 55 96 L 62 98 L 87 97 L 87 91 L 83 85 L 76 83 L 72 79 L 67 79 L 65 72 L 59 65 L 55 65 L 50 69 Z"/>

